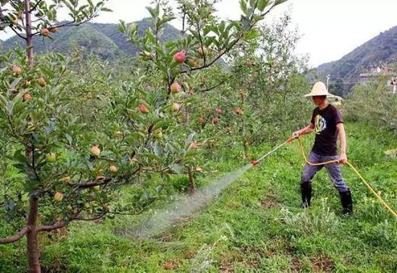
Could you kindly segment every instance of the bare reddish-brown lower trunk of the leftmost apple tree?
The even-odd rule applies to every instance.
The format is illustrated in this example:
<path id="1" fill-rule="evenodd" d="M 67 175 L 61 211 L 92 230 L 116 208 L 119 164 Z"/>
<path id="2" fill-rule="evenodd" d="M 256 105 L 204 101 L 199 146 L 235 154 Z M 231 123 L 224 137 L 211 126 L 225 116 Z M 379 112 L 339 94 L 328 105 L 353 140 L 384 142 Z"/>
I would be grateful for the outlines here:
<path id="1" fill-rule="evenodd" d="M 39 211 L 39 199 L 32 194 L 30 196 L 29 203 L 30 210 L 27 224 L 30 226 L 30 231 L 26 235 L 29 256 L 29 272 L 41 273 L 39 263 L 38 231 L 36 226 L 37 214 Z"/>

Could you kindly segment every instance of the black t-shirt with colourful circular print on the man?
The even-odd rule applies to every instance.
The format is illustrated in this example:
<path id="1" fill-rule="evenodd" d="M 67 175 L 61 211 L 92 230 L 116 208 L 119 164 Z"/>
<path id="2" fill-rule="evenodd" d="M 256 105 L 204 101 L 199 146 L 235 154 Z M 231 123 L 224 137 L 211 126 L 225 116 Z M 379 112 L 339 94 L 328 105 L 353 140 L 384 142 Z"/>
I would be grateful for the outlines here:
<path id="1" fill-rule="evenodd" d="M 338 137 L 336 124 L 341 122 L 343 122 L 342 117 L 335 106 L 329 104 L 323 110 L 316 107 L 311 120 L 316 133 L 312 151 L 320 155 L 336 155 Z"/>

